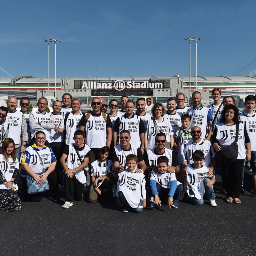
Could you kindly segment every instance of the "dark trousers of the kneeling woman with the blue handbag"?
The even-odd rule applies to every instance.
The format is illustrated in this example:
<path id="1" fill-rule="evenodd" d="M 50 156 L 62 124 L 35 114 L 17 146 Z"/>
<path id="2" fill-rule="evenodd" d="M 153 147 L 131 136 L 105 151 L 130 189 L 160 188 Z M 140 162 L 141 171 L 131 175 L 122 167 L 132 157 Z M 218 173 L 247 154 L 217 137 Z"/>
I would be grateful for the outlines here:
<path id="1" fill-rule="evenodd" d="M 50 189 L 48 191 L 46 191 L 45 193 L 39 193 L 39 194 L 28 194 L 28 187 L 27 187 L 27 180 L 26 179 L 21 179 L 22 182 L 22 187 L 24 188 L 24 190 L 22 192 L 24 192 L 24 196 L 29 199 L 31 202 L 39 202 L 42 200 L 42 197 L 44 194 L 52 194 L 53 190 L 56 186 L 57 180 L 56 180 L 56 172 L 52 171 L 48 177 L 47 177 L 48 183 L 49 183 L 49 187 Z M 22 193 L 23 194 L 23 193 Z"/>

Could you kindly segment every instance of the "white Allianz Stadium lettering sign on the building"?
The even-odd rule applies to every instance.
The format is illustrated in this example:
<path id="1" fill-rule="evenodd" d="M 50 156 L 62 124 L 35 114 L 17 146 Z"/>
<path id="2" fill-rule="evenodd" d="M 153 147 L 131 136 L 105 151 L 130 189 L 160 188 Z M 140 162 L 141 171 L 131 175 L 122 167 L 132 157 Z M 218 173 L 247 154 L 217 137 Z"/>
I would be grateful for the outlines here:
<path id="1" fill-rule="evenodd" d="M 162 89 L 164 88 L 162 82 L 152 81 L 129 81 L 129 80 L 115 80 L 111 82 L 98 81 L 82 81 L 81 89 L 116 89 L 122 91 L 123 89 Z"/>

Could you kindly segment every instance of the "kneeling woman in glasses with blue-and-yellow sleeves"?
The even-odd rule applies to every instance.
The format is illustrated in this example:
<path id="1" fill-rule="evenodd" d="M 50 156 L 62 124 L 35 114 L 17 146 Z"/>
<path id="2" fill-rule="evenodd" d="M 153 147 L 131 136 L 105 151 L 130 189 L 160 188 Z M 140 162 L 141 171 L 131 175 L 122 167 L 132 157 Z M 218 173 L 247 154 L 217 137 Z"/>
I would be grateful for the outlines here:
<path id="1" fill-rule="evenodd" d="M 37 184 L 45 183 L 46 180 L 48 180 L 50 189 L 47 193 L 51 195 L 57 182 L 56 173 L 54 171 L 56 158 L 53 154 L 53 150 L 46 147 L 44 142 L 45 133 L 38 131 L 35 134 L 35 143 L 25 150 L 21 164 L 26 173 L 32 176 Z M 23 180 L 22 185 L 24 188 L 27 188 L 26 180 Z M 42 193 L 27 194 L 27 196 L 32 202 L 42 200 Z"/>

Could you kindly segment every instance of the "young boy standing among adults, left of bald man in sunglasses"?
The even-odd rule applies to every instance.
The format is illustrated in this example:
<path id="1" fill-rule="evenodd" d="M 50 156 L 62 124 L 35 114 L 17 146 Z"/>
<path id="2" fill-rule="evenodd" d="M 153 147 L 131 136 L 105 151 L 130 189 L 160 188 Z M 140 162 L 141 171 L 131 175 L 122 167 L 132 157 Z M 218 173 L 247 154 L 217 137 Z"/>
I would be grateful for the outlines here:
<path id="1" fill-rule="evenodd" d="M 177 150 L 177 159 L 182 165 L 182 157 L 185 145 L 191 140 L 191 129 L 190 129 L 191 117 L 190 115 L 181 116 L 182 129 L 177 130 L 174 138 L 174 148 Z M 180 166 L 180 170 L 182 166 Z"/>

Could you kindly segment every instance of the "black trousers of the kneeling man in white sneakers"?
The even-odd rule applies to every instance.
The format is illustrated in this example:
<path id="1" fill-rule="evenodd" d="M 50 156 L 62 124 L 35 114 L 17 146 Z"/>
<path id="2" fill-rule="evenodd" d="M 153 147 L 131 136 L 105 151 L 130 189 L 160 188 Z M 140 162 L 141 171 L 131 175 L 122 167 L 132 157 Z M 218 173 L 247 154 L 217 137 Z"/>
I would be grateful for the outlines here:
<path id="1" fill-rule="evenodd" d="M 81 184 L 75 177 L 69 178 L 67 174 L 64 175 L 65 178 L 65 201 L 73 202 L 73 200 L 81 201 L 84 198 L 85 184 Z"/>

